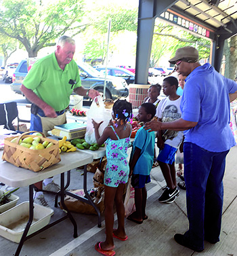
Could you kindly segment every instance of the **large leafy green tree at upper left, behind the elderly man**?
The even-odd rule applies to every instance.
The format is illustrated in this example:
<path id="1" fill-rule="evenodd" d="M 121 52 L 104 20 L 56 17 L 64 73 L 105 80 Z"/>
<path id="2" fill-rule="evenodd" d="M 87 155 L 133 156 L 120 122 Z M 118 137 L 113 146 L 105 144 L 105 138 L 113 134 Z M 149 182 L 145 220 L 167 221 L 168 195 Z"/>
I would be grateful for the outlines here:
<path id="1" fill-rule="evenodd" d="M 85 30 L 83 6 L 83 0 L 2 0 L 0 34 L 17 39 L 36 57 L 64 33 L 73 37 Z"/>

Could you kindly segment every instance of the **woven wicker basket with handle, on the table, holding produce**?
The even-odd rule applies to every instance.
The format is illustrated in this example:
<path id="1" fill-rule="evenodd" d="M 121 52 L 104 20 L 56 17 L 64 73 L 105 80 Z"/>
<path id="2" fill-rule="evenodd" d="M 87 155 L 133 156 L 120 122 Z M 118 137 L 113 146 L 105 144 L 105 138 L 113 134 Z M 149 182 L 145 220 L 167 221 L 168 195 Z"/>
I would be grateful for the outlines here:
<path id="1" fill-rule="evenodd" d="M 39 136 L 41 138 L 41 141 L 49 141 L 53 143 L 51 147 L 48 147 L 46 149 L 34 150 L 18 145 L 20 139 L 24 139 L 28 136 L 37 137 L 35 135 L 27 135 L 31 132 L 35 131 L 24 132 L 20 136 L 5 138 L 2 160 L 5 160 L 18 167 L 33 170 L 34 172 L 39 172 L 39 170 L 43 170 L 53 164 L 57 164 L 58 162 L 60 162 L 61 158 L 58 141 L 46 138 L 45 134 L 41 132 L 39 132 L 43 135 Z M 18 137 L 18 140 L 16 141 L 16 143 L 12 143 L 12 139 L 16 137 Z"/>

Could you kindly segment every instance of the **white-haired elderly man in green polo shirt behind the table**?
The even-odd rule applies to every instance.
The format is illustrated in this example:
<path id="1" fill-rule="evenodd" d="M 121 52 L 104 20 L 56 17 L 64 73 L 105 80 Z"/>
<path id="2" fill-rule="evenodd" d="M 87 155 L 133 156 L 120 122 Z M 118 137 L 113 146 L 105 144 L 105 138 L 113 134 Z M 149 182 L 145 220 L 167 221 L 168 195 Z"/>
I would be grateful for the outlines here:
<path id="1" fill-rule="evenodd" d="M 30 130 L 47 135 L 55 125 L 66 123 L 65 109 L 74 90 L 81 96 L 95 98 L 97 90 L 86 90 L 81 86 L 77 63 L 72 60 L 76 49 L 75 41 L 63 35 L 58 39 L 56 51 L 37 60 L 26 75 L 20 90 L 31 101 Z M 38 189 L 59 191 L 53 178 L 36 183 Z M 35 194 L 35 202 L 49 206 L 42 191 Z"/>

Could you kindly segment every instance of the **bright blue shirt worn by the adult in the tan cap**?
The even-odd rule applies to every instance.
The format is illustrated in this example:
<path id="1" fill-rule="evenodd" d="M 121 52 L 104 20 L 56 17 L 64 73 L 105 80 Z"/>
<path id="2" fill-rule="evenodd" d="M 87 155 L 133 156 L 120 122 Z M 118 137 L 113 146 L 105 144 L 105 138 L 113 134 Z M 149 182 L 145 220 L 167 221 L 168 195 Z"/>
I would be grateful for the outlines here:
<path id="1" fill-rule="evenodd" d="M 198 124 L 184 131 L 184 141 L 212 152 L 236 145 L 229 126 L 229 93 L 236 90 L 236 82 L 223 77 L 209 63 L 194 69 L 186 78 L 180 107 L 183 120 Z"/>

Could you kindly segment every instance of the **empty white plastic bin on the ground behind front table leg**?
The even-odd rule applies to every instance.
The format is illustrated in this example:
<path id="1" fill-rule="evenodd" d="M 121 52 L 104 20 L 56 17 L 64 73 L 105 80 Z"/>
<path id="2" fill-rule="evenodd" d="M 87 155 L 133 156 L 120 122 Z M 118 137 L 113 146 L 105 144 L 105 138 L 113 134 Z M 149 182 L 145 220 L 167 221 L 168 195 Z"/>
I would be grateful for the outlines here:
<path id="1" fill-rule="evenodd" d="M 37 230 L 47 225 L 51 215 L 53 215 L 53 209 L 34 204 L 34 217 L 28 235 L 37 232 Z M 22 202 L 2 213 L 0 215 L 0 236 L 19 243 L 28 222 L 28 217 L 29 202 Z"/>

